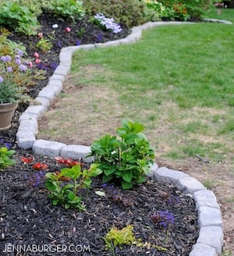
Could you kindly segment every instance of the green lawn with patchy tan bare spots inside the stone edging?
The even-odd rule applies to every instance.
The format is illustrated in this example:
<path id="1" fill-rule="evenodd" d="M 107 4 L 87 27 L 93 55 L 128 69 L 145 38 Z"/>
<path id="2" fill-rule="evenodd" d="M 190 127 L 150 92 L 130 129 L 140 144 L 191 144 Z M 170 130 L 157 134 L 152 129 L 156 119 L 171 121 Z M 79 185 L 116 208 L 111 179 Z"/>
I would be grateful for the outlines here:
<path id="1" fill-rule="evenodd" d="M 82 90 L 65 105 L 80 116 L 66 123 L 97 126 L 101 137 L 129 118 L 144 124 L 156 155 L 233 165 L 233 37 L 232 25 L 183 24 L 144 31 L 136 44 L 76 52 L 71 83 Z"/>

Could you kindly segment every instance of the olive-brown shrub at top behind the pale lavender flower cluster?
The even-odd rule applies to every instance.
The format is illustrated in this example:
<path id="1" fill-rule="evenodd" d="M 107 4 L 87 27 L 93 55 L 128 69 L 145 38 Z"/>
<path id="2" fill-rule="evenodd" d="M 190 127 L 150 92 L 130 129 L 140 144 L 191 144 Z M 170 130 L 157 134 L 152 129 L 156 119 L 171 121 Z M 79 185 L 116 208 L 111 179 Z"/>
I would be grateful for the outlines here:
<path id="1" fill-rule="evenodd" d="M 145 5 L 139 0 L 83 0 L 83 7 L 90 15 L 98 12 L 128 28 L 145 23 Z"/>

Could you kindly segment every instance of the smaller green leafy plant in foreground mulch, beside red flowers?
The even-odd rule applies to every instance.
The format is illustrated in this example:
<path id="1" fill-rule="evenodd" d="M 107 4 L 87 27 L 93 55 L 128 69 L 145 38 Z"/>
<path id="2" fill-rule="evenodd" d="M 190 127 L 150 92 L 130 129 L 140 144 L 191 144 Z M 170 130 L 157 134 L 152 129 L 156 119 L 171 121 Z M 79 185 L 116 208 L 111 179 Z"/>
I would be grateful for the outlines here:
<path id="1" fill-rule="evenodd" d="M 77 208 L 85 211 L 82 198 L 77 195 L 78 190 L 89 188 L 92 183 L 91 177 L 101 174 L 98 165 L 90 165 L 90 169 L 82 170 L 80 163 L 72 168 L 61 169 L 61 172 L 47 172 L 45 174 L 45 186 L 49 191 L 48 197 L 52 204 L 61 204 L 64 208 Z"/>

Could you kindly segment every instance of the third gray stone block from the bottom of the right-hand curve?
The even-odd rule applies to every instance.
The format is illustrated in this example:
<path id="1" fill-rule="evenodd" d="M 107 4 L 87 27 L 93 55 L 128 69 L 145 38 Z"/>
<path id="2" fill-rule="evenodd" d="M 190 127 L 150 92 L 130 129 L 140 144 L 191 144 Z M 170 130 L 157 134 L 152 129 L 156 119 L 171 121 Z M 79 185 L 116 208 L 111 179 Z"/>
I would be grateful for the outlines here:
<path id="1" fill-rule="evenodd" d="M 222 228 L 222 216 L 218 208 L 200 206 L 198 208 L 198 224 L 204 226 L 219 226 Z"/>

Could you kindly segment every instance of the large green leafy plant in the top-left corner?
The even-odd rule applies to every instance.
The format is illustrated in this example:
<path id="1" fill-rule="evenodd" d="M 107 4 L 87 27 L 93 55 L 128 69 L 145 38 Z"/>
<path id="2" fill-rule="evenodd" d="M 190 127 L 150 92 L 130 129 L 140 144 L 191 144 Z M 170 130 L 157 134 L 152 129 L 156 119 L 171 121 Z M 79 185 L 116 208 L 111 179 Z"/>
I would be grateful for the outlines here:
<path id="1" fill-rule="evenodd" d="M 40 27 L 37 16 L 27 6 L 8 1 L 1 6 L 1 25 L 26 35 L 36 34 L 37 29 Z"/>

